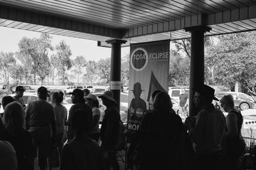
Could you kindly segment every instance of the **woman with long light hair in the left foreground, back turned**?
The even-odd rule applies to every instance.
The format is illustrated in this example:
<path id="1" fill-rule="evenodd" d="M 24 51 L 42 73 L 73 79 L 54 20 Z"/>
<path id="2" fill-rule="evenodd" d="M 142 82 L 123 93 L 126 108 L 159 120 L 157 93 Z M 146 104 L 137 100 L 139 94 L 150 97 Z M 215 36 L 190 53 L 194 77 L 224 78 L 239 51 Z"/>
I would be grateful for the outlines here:
<path id="1" fill-rule="evenodd" d="M 15 148 L 19 169 L 33 168 L 33 145 L 28 131 L 25 130 L 24 108 L 17 102 L 4 108 L 4 140 Z"/>

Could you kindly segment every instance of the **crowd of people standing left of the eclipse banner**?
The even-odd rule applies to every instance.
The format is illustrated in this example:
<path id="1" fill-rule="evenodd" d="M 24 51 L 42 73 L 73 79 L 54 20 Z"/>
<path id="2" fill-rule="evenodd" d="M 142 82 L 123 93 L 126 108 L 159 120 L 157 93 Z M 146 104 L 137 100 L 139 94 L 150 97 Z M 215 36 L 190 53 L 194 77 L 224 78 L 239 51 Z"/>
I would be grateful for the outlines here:
<path id="1" fill-rule="evenodd" d="M 39 87 L 38 100 L 26 106 L 24 91 L 18 86 L 14 97 L 2 99 L 0 169 L 35 169 L 36 157 L 40 169 L 52 169 L 54 151 L 60 169 L 119 169 L 116 145 L 120 114 L 112 92 L 99 96 L 106 106 L 99 128 L 99 101 L 86 90 L 70 93 L 74 105 L 68 113 L 61 104 L 63 92 L 50 93 Z"/>

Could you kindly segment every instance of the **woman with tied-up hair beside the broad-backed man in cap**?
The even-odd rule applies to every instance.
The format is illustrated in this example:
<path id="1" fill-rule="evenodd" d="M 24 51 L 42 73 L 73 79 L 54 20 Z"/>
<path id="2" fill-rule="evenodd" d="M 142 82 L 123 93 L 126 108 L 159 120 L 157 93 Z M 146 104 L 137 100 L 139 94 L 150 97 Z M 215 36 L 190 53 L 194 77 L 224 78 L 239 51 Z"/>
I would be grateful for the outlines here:
<path id="1" fill-rule="evenodd" d="M 65 120 L 67 120 L 67 109 L 61 103 L 63 101 L 63 92 L 53 92 L 51 96 L 51 104 L 53 106 L 56 119 L 56 145 L 58 146 L 58 156 L 60 158 L 63 147 L 63 134 L 65 131 Z M 48 159 L 48 168 L 52 169 L 52 155 Z"/>

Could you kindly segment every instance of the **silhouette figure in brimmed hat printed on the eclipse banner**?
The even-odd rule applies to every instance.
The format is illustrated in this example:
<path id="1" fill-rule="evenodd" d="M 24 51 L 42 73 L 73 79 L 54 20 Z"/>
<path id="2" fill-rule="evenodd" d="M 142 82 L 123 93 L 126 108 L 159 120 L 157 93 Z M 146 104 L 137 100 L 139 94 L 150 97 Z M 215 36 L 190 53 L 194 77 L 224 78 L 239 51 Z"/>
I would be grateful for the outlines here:
<path id="1" fill-rule="evenodd" d="M 140 98 L 143 91 L 139 82 L 134 84 L 132 92 L 135 98 L 132 99 L 129 108 L 131 120 L 140 120 L 143 116 L 143 111 L 147 109 L 147 104 Z"/>

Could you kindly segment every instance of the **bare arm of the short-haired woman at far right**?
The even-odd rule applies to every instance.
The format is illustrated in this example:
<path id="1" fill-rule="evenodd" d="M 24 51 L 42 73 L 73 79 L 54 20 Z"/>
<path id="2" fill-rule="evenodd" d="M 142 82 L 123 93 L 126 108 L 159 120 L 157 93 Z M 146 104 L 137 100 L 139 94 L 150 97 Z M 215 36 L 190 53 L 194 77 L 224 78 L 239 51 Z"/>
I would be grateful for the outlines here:
<path id="1" fill-rule="evenodd" d="M 226 117 L 227 132 L 225 137 L 234 137 L 238 134 L 237 116 L 234 113 L 229 113 Z"/>

